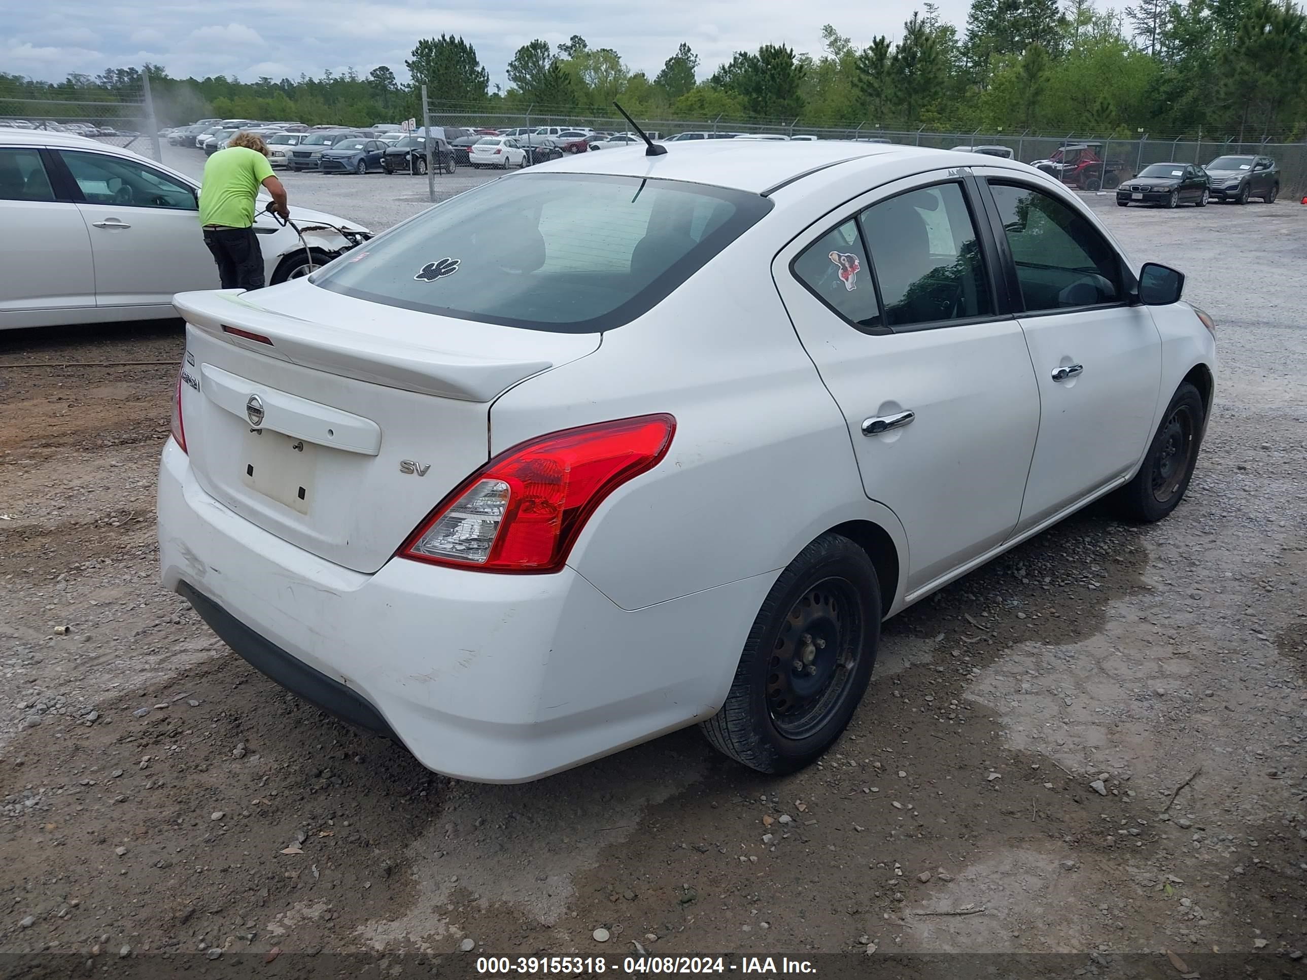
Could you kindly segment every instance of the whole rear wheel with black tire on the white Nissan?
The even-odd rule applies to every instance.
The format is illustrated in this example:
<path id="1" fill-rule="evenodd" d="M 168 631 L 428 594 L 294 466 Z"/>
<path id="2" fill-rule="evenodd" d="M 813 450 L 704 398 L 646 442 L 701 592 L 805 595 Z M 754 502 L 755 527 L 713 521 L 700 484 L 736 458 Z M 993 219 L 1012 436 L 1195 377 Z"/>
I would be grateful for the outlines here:
<path id="1" fill-rule="evenodd" d="M 808 766 L 852 719 L 880 632 L 870 558 L 842 534 L 822 534 L 767 593 L 721 711 L 701 725 L 704 736 L 759 772 Z"/>

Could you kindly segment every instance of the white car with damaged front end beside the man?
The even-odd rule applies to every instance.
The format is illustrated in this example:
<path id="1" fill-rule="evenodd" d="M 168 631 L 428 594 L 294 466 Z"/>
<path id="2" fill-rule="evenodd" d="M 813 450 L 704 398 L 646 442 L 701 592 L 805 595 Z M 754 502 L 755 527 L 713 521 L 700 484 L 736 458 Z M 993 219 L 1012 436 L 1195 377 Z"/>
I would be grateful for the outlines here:
<path id="1" fill-rule="evenodd" d="M 217 289 L 199 193 L 195 180 L 127 149 L 0 131 L 0 329 L 170 318 L 175 293 Z M 290 217 L 303 242 L 271 214 L 255 220 L 268 285 L 371 238 L 294 204 Z"/>

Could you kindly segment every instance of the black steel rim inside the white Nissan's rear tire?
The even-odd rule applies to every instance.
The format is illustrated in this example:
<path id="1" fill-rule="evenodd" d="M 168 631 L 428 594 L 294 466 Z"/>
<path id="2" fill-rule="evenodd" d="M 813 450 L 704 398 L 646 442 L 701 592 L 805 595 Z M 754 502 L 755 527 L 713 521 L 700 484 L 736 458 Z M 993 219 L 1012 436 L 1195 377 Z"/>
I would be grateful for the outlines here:
<path id="1" fill-rule="evenodd" d="M 791 740 L 818 732 L 848 694 L 863 656 L 853 585 L 823 579 L 791 606 L 767 661 L 767 713 Z"/>

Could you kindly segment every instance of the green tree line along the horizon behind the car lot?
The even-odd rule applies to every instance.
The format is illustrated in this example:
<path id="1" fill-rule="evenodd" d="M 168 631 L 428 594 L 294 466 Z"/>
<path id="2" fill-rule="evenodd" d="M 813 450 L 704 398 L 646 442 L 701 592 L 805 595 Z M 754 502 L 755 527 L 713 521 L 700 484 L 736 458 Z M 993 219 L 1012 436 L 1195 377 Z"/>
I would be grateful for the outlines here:
<path id="1" fill-rule="evenodd" d="M 461 112 L 612 116 L 800 127 L 1117 136 L 1238 135 L 1297 140 L 1307 133 L 1307 17 L 1294 0 L 1137 0 L 1115 10 L 1093 0 L 972 0 L 961 27 L 924 3 L 897 38 L 859 46 L 834 25 L 822 50 L 786 44 L 738 51 L 707 77 L 689 44 L 648 77 L 608 47 L 572 35 L 523 44 L 491 85 L 476 48 L 442 34 L 417 42 L 408 81 L 391 67 L 320 77 L 171 78 L 146 67 L 161 123 L 248 116 L 365 125 L 433 106 Z M 0 73 L 4 95 L 52 101 L 137 97 L 136 68 L 42 82 Z M 76 115 L 54 111 L 51 115 Z"/>

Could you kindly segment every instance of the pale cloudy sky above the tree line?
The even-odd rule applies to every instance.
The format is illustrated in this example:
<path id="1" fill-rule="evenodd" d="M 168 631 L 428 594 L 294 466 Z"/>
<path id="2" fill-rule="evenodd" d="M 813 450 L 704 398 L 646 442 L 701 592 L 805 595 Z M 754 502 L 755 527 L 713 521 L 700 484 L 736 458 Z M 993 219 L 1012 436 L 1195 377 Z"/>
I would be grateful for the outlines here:
<path id="1" fill-rule="evenodd" d="M 682 41 L 707 76 L 733 51 L 786 43 L 821 51 L 821 26 L 834 24 L 859 46 L 891 38 L 919 4 L 912 0 L 812 7 L 796 0 L 0 0 L 0 71 L 61 80 L 69 72 L 162 64 L 173 76 L 227 74 L 243 81 L 319 74 L 379 64 L 404 77 L 418 38 L 463 35 L 491 82 L 507 88 L 505 65 L 533 38 L 552 44 L 580 34 L 616 48 L 633 71 L 652 77 Z M 938 0 L 961 25 L 968 0 Z"/>

